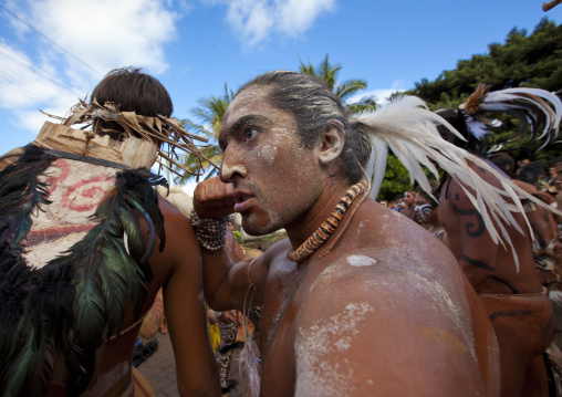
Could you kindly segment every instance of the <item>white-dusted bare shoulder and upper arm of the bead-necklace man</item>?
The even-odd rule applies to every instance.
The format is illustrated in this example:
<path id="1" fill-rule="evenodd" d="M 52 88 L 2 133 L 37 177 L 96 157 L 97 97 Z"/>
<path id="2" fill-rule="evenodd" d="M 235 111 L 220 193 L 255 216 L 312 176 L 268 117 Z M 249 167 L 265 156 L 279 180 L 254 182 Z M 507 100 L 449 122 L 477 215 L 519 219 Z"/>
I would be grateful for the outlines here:
<path id="1" fill-rule="evenodd" d="M 480 391 L 462 276 L 435 242 L 420 237 L 415 252 L 386 241 L 320 262 L 294 322 L 298 391 L 464 395 L 459 385 L 466 395 Z"/>

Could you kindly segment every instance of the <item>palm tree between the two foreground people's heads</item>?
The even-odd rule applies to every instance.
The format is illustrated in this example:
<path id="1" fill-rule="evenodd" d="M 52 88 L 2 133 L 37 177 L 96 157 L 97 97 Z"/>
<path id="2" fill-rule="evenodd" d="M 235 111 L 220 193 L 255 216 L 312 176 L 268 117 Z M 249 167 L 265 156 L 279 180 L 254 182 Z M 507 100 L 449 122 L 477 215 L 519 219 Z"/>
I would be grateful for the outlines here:
<path id="1" fill-rule="evenodd" d="M 228 90 L 227 83 L 225 83 L 225 92 L 221 96 L 217 97 L 212 95 L 211 97 L 199 100 L 199 106 L 190 111 L 200 124 L 195 123 L 189 118 L 181 121 L 184 128 L 192 134 L 204 136 L 209 139 L 208 145 L 200 149 L 215 164 L 220 164 L 222 160 L 222 152 L 218 145 L 218 136 L 220 127 L 222 126 L 222 116 L 227 112 L 228 105 L 232 101 L 233 96 L 233 92 Z M 200 176 L 204 176 L 205 179 L 207 179 L 218 175 L 218 169 L 212 167 L 209 161 L 202 160 L 192 155 L 184 156 L 180 163 L 183 163 L 184 167 L 192 171 L 194 175 L 186 174 L 184 177 L 178 178 L 176 180 L 176 184 L 178 185 L 184 185 L 194 178 L 198 181 Z"/>

